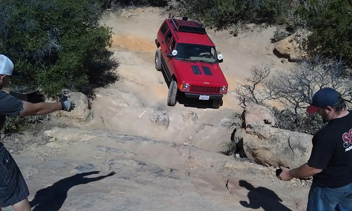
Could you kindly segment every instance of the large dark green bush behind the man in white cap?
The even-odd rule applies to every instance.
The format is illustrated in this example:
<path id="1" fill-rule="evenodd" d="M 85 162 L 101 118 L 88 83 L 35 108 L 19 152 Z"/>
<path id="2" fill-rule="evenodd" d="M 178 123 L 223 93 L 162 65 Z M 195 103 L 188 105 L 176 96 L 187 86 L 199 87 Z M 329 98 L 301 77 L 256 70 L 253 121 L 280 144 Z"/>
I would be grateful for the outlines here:
<path id="1" fill-rule="evenodd" d="M 98 0 L 0 0 L 0 52 L 23 76 L 11 86 L 40 87 L 48 97 L 62 89 L 86 92 L 94 68 L 112 54 L 101 7 Z"/>

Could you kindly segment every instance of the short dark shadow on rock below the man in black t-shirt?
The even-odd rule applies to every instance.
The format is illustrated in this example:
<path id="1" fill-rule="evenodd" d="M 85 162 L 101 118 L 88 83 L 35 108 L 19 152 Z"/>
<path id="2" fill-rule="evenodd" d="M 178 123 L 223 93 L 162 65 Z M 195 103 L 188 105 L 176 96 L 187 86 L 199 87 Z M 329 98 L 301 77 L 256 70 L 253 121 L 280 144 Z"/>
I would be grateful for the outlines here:
<path id="1" fill-rule="evenodd" d="M 282 199 L 272 190 L 265 187 L 253 187 L 250 183 L 244 180 L 238 181 L 239 186 L 245 187 L 249 190 L 247 201 L 240 201 L 239 203 L 247 208 L 258 209 L 262 208 L 266 211 L 291 211 L 288 207 L 282 204 Z"/>

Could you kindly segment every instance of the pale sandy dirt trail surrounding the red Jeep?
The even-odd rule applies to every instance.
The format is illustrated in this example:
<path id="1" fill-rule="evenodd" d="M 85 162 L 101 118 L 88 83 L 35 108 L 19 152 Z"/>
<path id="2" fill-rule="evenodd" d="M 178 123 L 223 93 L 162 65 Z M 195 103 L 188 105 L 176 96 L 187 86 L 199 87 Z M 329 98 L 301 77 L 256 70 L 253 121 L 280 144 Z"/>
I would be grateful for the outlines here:
<path id="1" fill-rule="evenodd" d="M 229 83 L 229 92 L 223 98 L 223 106 L 220 109 L 197 109 L 178 103 L 168 107 L 167 85 L 162 74 L 154 67 L 154 39 L 165 17 L 167 15 L 156 8 L 145 8 L 138 12 L 123 11 L 119 16 L 111 12 L 105 15 L 102 24 L 113 28 L 111 50 L 115 52 L 113 58 L 120 63 L 116 69 L 120 80 L 107 89 L 98 90 L 98 100 L 93 102 L 97 118 L 89 126 L 117 129 L 125 134 L 155 139 L 177 139 L 181 143 L 199 128 L 199 124 L 185 127 L 183 119 L 178 119 L 175 114 L 196 112 L 198 122 L 220 125 L 224 118 L 241 112 L 233 90 L 236 82 L 250 77 L 252 65 L 266 62 L 275 64 L 275 68 L 286 66 L 267 50 L 273 46 L 270 44 L 272 28 L 240 34 L 238 37 L 229 35 L 227 31 L 209 31 L 209 36 L 224 55 L 224 62 L 220 66 Z M 141 118 L 150 116 L 155 109 L 169 113 L 170 122 L 166 131 L 149 128 L 147 118 Z"/>

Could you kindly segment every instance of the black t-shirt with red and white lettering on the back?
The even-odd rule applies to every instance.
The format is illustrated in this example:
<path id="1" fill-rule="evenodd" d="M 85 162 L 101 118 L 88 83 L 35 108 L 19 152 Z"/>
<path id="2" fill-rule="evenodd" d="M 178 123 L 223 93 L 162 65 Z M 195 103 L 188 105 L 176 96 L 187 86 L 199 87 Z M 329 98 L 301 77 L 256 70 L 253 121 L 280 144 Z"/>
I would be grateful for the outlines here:
<path id="1" fill-rule="evenodd" d="M 312 143 L 308 166 L 322 169 L 313 176 L 315 185 L 337 188 L 352 183 L 352 112 L 331 120 Z"/>

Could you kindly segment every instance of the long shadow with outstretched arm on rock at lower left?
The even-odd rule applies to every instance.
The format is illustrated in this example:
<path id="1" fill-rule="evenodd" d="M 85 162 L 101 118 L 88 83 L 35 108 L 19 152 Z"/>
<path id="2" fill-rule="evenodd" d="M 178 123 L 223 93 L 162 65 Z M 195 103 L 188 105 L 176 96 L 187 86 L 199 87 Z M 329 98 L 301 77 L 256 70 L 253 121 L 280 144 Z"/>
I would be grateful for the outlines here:
<path id="1" fill-rule="evenodd" d="M 85 178 L 84 176 L 98 174 L 99 171 L 92 171 L 86 173 L 75 174 L 71 177 L 67 177 L 58 182 L 55 182 L 53 185 L 38 190 L 34 196 L 34 199 L 30 202 L 31 207 L 36 206 L 33 211 L 58 211 L 63 202 L 67 197 L 68 190 L 80 184 L 87 184 L 90 182 L 95 182 L 106 177 L 113 176 L 115 172 L 111 172 L 108 175 L 99 176 L 95 178 Z"/>

